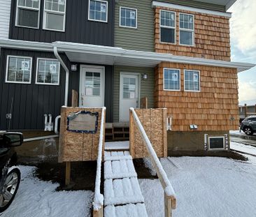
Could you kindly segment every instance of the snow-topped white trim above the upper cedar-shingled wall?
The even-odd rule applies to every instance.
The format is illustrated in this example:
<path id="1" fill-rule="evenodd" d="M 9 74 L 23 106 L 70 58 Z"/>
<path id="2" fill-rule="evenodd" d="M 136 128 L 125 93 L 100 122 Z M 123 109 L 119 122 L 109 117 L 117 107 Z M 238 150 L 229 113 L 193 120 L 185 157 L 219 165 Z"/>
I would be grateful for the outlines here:
<path id="1" fill-rule="evenodd" d="M 152 7 L 164 7 L 164 8 L 173 8 L 177 10 L 187 10 L 187 11 L 192 11 L 196 13 L 205 13 L 209 15 L 216 15 L 216 16 L 222 16 L 222 17 L 227 17 L 231 18 L 232 13 L 227 13 L 227 12 L 220 12 L 216 10 L 207 10 L 207 9 L 201 9 L 201 8 L 193 8 L 190 6 L 181 6 L 178 4 L 174 3 L 166 3 L 166 2 L 160 2 L 160 1 L 152 1 Z"/>

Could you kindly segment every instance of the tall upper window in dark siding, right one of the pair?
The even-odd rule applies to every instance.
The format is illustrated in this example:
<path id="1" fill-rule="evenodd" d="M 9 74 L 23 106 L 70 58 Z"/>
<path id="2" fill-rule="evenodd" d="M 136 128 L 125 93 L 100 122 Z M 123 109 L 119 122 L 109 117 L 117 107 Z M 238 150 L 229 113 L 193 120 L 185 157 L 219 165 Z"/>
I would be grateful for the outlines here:
<path id="1" fill-rule="evenodd" d="M 43 29 L 65 31 L 66 0 L 45 0 Z"/>

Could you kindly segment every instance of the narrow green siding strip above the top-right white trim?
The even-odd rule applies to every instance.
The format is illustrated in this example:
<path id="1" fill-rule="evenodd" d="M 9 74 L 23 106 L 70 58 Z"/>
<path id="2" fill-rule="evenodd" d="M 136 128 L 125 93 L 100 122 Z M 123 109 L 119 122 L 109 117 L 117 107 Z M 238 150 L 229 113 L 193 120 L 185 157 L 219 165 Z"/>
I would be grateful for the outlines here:
<path id="1" fill-rule="evenodd" d="M 201 9 L 207 9 L 207 10 L 217 10 L 221 12 L 226 12 L 225 6 L 220 6 L 214 3 L 204 3 L 200 1 L 187 1 L 187 0 L 162 0 L 162 2 L 176 3 L 182 6 L 190 6 L 193 8 L 201 8 Z"/>

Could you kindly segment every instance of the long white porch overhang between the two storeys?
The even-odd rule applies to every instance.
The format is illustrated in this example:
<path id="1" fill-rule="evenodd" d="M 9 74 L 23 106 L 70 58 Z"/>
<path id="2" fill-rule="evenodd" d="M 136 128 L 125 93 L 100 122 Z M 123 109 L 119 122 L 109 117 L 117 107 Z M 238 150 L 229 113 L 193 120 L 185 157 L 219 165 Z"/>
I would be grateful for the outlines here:
<path id="1" fill-rule="evenodd" d="M 181 57 L 173 54 L 126 50 L 121 47 L 66 43 L 59 41 L 54 43 L 38 43 L 24 40 L 5 39 L 0 40 L 0 48 L 1 47 L 20 50 L 38 50 L 45 52 L 53 52 L 54 47 L 56 47 L 57 51 L 65 53 L 71 62 L 111 66 L 137 66 L 152 68 L 161 62 L 172 62 L 201 66 L 237 68 L 238 72 L 242 72 L 256 66 L 252 63 Z"/>

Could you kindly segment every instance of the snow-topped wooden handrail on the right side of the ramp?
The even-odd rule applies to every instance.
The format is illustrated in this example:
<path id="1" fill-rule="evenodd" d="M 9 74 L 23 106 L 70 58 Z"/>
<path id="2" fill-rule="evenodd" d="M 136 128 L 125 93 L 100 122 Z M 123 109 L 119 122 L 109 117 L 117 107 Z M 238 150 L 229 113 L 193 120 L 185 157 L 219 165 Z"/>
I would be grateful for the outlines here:
<path id="1" fill-rule="evenodd" d="M 173 186 L 171 185 L 162 164 L 160 163 L 155 150 L 152 147 L 150 140 L 148 139 L 148 135 L 145 133 L 145 130 L 141 124 L 141 121 L 138 119 L 138 116 L 134 110 L 134 108 L 130 108 L 130 121 L 135 124 L 138 129 L 141 140 L 145 143 L 145 147 L 148 151 L 148 155 L 150 161 L 157 172 L 157 176 L 162 184 L 162 188 L 164 189 L 164 216 L 171 217 L 172 209 L 176 209 L 176 194 L 173 190 Z M 166 127 L 166 126 L 164 126 Z"/>

